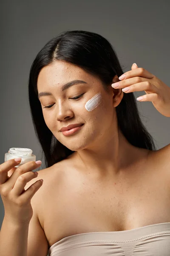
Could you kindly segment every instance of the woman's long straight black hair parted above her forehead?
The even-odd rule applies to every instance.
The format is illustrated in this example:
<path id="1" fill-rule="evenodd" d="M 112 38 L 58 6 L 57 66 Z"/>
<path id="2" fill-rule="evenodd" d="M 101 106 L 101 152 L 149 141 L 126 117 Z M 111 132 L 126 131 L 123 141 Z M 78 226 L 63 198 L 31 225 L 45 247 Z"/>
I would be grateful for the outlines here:
<path id="1" fill-rule="evenodd" d="M 46 168 L 74 152 L 60 143 L 48 129 L 37 97 L 37 78 L 40 71 L 56 60 L 67 61 L 97 76 L 106 89 L 112 84 L 115 75 L 119 77 L 124 73 L 110 42 L 94 32 L 82 30 L 62 32 L 48 41 L 38 52 L 30 69 L 28 94 L 31 117 L 42 146 L 42 154 L 45 155 Z M 130 144 L 156 150 L 153 138 L 139 117 L 133 93 L 124 93 L 122 101 L 116 107 L 116 115 L 118 127 Z"/>

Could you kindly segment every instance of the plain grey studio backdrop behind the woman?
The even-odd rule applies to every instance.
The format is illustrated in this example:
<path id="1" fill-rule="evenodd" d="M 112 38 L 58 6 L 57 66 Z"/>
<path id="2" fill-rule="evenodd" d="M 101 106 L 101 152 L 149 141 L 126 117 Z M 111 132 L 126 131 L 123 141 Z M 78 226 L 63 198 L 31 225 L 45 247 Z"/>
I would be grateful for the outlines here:
<path id="1" fill-rule="evenodd" d="M 40 49 L 64 30 L 99 33 L 111 42 L 125 72 L 136 62 L 170 86 L 169 0 L 3 0 L 0 9 L 0 163 L 11 147 L 31 148 L 44 168 L 29 109 L 28 75 Z M 169 144 L 170 118 L 151 102 L 137 104 L 156 148 Z M 0 227 L 3 217 L 0 198 Z"/>

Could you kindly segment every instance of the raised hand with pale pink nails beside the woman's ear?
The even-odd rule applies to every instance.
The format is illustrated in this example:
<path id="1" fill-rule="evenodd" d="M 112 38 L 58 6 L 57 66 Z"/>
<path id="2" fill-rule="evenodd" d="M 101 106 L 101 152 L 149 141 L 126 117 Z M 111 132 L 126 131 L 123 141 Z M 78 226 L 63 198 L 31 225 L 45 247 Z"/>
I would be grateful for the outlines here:
<path id="1" fill-rule="evenodd" d="M 119 80 L 123 81 L 113 83 L 112 87 L 115 88 L 115 85 L 119 85 L 116 89 L 125 88 L 127 91 L 122 89 L 125 93 L 144 90 L 146 94 L 141 96 L 142 99 L 138 97 L 137 100 L 152 102 L 159 113 L 170 117 L 170 87 L 152 73 L 142 67 L 138 67 L 135 63 L 133 63 L 131 69 L 119 77 Z M 124 75 L 125 77 L 123 77 Z"/>

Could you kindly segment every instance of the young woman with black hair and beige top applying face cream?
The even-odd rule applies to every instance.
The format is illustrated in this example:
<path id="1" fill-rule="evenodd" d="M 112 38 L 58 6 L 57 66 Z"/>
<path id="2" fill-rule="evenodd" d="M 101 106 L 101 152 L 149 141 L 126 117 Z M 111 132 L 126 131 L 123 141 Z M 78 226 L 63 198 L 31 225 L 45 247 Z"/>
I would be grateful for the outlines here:
<path id="1" fill-rule="evenodd" d="M 170 144 L 156 150 L 133 92 L 170 117 L 170 88 L 136 64 L 122 74 L 93 32 L 63 32 L 37 54 L 29 102 L 46 168 L 31 198 L 27 256 L 169 255 Z"/>

